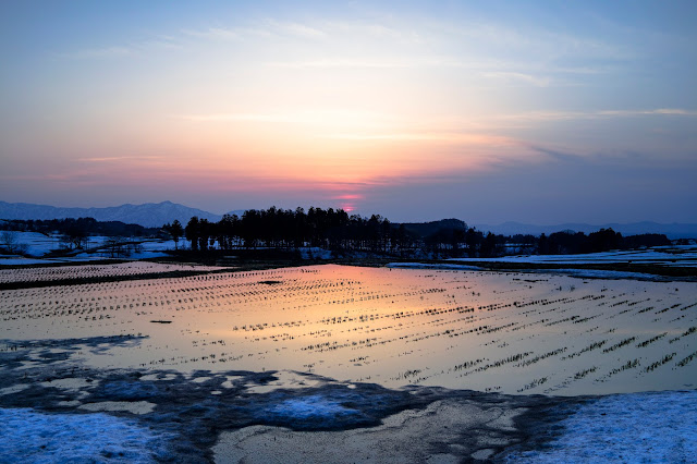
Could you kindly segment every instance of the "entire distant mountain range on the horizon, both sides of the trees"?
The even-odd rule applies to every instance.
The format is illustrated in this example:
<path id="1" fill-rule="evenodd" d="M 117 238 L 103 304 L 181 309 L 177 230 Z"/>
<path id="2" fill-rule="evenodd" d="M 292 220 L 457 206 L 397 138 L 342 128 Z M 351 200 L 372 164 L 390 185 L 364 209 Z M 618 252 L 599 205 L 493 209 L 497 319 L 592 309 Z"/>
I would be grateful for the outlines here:
<path id="1" fill-rule="evenodd" d="M 230 213 L 241 216 L 244 210 L 234 210 Z M 199 219 L 219 221 L 222 215 L 204 211 L 203 209 L 189 208 L 172 202 L 146 203 L 144 205 L 121 205 L 108 208 L 58 208 L 47 205 L 34 205 L 28 203 L 7 203 L 0 202 L 0 219 L 65 219 L 65 218 L 95 218 L 98 221 L 121 221 L 125 223 L 136 223 L 148 228 L 158 228 L 174 219 L 186 225 L 188 220 L 197 216 Z M 447 220 L 448 227 L 460 227 L 460 220 Z M 405 223 L 407 229 L 415 229 L 426 232 L 441 221 L 433 223 Z M 451 223 L 452 222 L 452 223 Z M 535 225 L 521 222 L 504 222 L 498 225 L 473 224 L 482 232 L 493 232 L 496 234 L 514 235 L 541 233 L 550 234 L 554 232 L 571 230 L 574 232 L 590 233 L 600 229 L 612 229 L 623 235 L 636 235 L 641 233 L 661 233 L 669 239 L 697 237 L 697 224 L 694 223 L 672 223 L 661 224 L 658 222 L 633 222 L 628 224 L 586 224 L 586 223 L 564 223 L 554 225 Z"/>

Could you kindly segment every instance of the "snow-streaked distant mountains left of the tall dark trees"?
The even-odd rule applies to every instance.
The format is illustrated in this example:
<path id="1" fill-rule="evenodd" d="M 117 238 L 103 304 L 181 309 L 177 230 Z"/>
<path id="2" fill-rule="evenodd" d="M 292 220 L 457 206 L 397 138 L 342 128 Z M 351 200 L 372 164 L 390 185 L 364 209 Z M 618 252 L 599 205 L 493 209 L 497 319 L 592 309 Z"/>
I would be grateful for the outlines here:
<path id="1" fill-rule="evenodd" d="M 209 221 L 219 221 L 222 216 L 189 208 L 172 202 L 121 205 L 108 208 L 58 208 L 28 203 L 0 202 L 0 219 L 65 219 L 94 218 L 98 221 L 121 221 L 147 228 L 159 228 L 174 219 L 186 225 L 193 216 Z"/>

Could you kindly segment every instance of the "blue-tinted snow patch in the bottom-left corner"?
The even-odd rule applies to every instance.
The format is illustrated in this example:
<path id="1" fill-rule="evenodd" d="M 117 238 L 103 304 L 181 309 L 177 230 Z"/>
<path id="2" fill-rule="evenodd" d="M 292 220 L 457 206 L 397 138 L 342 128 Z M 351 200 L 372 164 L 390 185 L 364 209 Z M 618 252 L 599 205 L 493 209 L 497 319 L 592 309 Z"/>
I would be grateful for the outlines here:
<path id="1" fill-rule="evenodd" d="M 150 463 L 170 457 L 170 437 L 107 414 L 0 408 L 0 462 Z"/>

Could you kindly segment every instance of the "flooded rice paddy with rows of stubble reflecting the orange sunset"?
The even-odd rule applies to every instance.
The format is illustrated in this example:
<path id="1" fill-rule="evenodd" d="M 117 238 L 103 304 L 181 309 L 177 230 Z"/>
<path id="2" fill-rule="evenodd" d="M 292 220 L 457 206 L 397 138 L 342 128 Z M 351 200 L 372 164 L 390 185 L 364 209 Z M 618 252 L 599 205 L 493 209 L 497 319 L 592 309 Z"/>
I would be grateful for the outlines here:
<path id="1" fill-rule="evenodd" d="M 697 283 L 327 265 L 0 292 L 0 340 L 13 341 L 0 351 L 114 335 L 131 339 L 53 355 L 280 370 L 270 389 L 309 381 L 293 373 L 513 394 L 694 389 Z"/>

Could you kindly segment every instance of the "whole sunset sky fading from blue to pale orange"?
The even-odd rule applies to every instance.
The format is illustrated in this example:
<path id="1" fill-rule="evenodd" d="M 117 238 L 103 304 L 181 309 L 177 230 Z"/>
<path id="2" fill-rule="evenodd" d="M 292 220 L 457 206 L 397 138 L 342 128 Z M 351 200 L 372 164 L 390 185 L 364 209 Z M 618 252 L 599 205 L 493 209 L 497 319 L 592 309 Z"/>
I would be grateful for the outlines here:
<path id="1" fill-rule="evenodd" d="M 697 222 L 697 2 L 0 2 L 0 200 Z"/>

